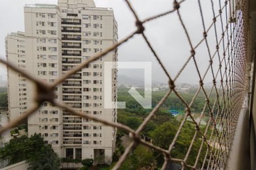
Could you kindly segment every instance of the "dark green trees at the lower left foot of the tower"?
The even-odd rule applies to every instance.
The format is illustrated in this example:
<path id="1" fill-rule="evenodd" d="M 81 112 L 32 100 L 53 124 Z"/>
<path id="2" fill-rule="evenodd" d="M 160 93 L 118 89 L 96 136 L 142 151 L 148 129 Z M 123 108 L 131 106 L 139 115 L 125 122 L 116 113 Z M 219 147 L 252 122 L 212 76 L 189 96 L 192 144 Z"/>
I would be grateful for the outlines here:
<path id="1" fill-rule="evenodd" d="M 22 136 L 11 139 L 5 147 L 0 148 L 0 161 L 9 160 L 9 165 L 27 160 L 32 169 L 59 169 L 60 159 L 52 150 L 51 145 L 46 145 L 39 134 L 30 138 Z"/>

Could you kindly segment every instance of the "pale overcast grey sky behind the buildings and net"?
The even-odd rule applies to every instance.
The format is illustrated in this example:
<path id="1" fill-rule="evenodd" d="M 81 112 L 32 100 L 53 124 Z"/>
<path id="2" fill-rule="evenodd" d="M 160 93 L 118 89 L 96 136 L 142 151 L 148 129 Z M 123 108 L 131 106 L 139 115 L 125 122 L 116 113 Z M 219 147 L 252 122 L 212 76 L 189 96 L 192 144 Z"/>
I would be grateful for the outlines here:
<path id="1" fill-rule="evenodd" d="M 94 0 L 97 7 L 112 7 L 114 10 L 115 19 L 118 23 L 118 35 L 119 40 L 123 39 L 131 32 L 135 27 L 135 19 L 124 0 Z M 148 18 L 156 14 L 171 10 L 173 8 L 172 1 L 170 0 L 131 0 L 131 5 L 140 19 Z M 1 32 L 0 32 L 0 57 L 5 58 L 5 36 L 7 33 L 24 31 L 24 14 L 23 7 L 26 4 L 34 3 L 50 3 L 57 4 L 57 0 L 1 0 L 0 15 L 1 20 Z M 218 1 L 214 1 L 214 11 L 218 14 L 219 4 Z M 224 5 L 224 1 L 221 0 L 221 6 Z M 203 16 L 205 27 L 208 28 L 212 23 L 213 11 L 210 0 L 201 1 L 203 8 Z M 11 12 L 10 12 L 11 11 Z M 203 24 L 201 21 L 201 15 L 199 5 L 196 0 L 187 0 L 181 3 L 180 14 L 188 30 L 188 34 L 191 38 L 192 45 L 195 46 L 203 38 Z M 225 14 L 223 14 L 225 18 Z M 218 40 L 221 36 L 221 22 L 217 20 L 217 37 Z M 224 25 L 226 22 L 224 20 Z M 188 39 L 185 35 L 184 29 L 181 26 L 177 12 L 163 16 L 162 18 L 152 20 L 145 25 L 145 34 L 148 40 L 151 42 L 156 53 L 166 66 L 168 73 L 174 78 L 180 69 L 183 67 L 185 61 L 187 61 L 190 55 L 190 46 Z M 214 33 L 214 27 L 212 27 L 208 33 L 208 43 L 211 55 L 216 50 L 216 37 Z M 223 50 L 220 48 L 220 50 Z M 221 52 L 222 54 L 223 52 Z M 222 57 L 222 56 L 221 56 Z M 195 56 L 197 66 L 201 75 L 205 73 L 209 65 L 209 54 L 205 42 L 203 42 L 196 49 Z M 119 61 L 149 61 L 152 62 L 152 80 L 153 82 L 167 83 L 167 76 L 164 74 L 163 69 L 159 66 L 154 55 L 151 53 L 146 42 L 141 35 L 135 36 L 125 44 L 118 48 L 118 60 Z M 218 67 L 218 57 L 213 59 L 213 72 L 216 74 Z M 143 78 L 143 70 L 127 70 L 120 69 L 119 74 L 124 74 L 130 77 Z M 6 78 L 6 67 L 0 65 L 0 75 Z M 205 82 L 212 81 L 212 72 L 208 72 L 205 76 Z M 196 71 L 195 63 L 191 60 L 188 65 L 183 69 L 179 78 L 179 83 L 198 84 L 199 76 Z"/>

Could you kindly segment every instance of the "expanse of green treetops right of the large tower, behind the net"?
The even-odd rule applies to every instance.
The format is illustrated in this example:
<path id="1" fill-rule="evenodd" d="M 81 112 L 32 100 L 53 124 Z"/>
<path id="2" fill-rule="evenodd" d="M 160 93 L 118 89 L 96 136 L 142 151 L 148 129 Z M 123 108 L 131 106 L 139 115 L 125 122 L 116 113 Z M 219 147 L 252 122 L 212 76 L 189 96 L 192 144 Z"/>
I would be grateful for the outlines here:
<path id="1" fill-rule="evenodd" d="M 122 87 L 118 89 L 118 101 L 126 101 L 125 109 L 118 109 L 118 122 L 129 126 L 131 129 L 136 130 L 139 125 L 142 124 L 144 118 L 148 116 L 151 109 L 144 109 L 130 96 L 127 92 L 129 89 Z M 139 91 L 143 94 L 142 91 Z M 186 93 L 180 93 L 185 102 L 190 103 L 196 90 L 191 89 Z M 166 91 L 152 92 L 152 105 L 155 106 L 162 97 L 166 94 Z M 213 103 L 214 94 L 210 96 L 210 104 Z M 192 112 L 199 113 L 203 110 L 205 104 L 205 96 L 202 92 L 199 92 L 194 104 L 192 105 Z M 175 134 L 179 128 L 180 122 L 183 120 L 183 116 L 179 118 L 172 116 L 170 113 L 171 108 L 178 108 L 178 110 L 185 113 L 185 107 L 181 103 L 180 99 L 171 94 L 170 97 L 163 103 L 158 109 L 155 115 L 151 118 L 148 124 L 143 129 L 141 136 L 148 137 L 151 142 L 159 147 L 168 150 L 172 143 Z M 209 110 L 205 110 L 205 115 L 209 114 Z M 201 126 L 201 129 L 205 129 L 205 126 Z M 209 130 L 211 131 L 211 130 Z M 207 135 L 209 135 L 208 132 Z M 173 158 L 184 159 L 187 154 L 188 148 L 191 145 L 193 135 L 195 134 L 195 125 L 192 122 L 186 121 L 174 147 L 172 148 L 171 156 Z M 113 165 L 118 161 L 125 148 L 122 146 L 121 137 L 125 135 L 122 131 L 118 130 L 117 133 L 117 149 L 113 154 Z M 193 165 L 196 161 L 197 154 L 200 150 L 202 143 L 201 135 L 197 135 L 192 149 L 189 153 L 187 164 Z M 204 155 L 207 150 L 207 146 L 203 145 L 201 148 L 201 154 L 199 155 L 199 162 L 197 165 L 200 167 L 203 163 Z M 138 145 L 135 150 L 128 156 L 120 169 L 157 169 L 162 167 L 164 162 L 163 154 L 151 150 L 146 146 Z M 113 165 L 111 167 L 113 167 Z M 110 167 L 110 168 L 111 168 Z"/>

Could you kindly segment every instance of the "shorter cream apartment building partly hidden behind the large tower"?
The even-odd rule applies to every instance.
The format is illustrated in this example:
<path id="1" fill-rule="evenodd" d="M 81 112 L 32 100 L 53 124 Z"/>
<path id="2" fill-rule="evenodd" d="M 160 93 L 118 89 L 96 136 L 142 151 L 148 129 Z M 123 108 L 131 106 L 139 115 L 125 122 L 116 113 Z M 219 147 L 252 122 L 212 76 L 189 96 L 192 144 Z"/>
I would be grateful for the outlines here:
<path id="1" fill-rule="evenodd" d="M 5 38 L 6 59 L 22 70 L 26 69 L 24 32 L 10 33 Z M 22 74 L 7 67 L 9 118 L 20 116 L 27 110 L 27 80 Z"/>

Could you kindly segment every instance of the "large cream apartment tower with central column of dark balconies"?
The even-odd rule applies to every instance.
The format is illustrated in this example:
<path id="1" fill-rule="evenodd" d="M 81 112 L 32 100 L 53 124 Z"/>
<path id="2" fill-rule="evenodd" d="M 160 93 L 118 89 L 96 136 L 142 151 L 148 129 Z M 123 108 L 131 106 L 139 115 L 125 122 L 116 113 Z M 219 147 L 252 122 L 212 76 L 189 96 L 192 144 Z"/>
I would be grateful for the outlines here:
<path id="1" fill-rule="evenodd" d="M 47 83 L 118 40 L 113 10 L 98 8 L 93 0 L 26 5 L 24 18 L 26 71 Z M 116 62 L 117 55 L 117 50 L 110 52 L 69 77 L 56 87 L 56 99 L 84 114 L 116 122 L 116 109 L 104 108 L 104 62 Z M 117 71 L 112 71 L 111 97 L 116 101 Z M 34 84 L 27 83 L 27 108 L 34 104 L 34 90 Z M 10 98 L 13 98 L 11 94 Z M 115 128 L 72 116 L 51 103 L 43 103 L 40 110 L 28 118 L 28 135 L 34 133 L 40 133 L 60 157 L 112 160 Z"/>

